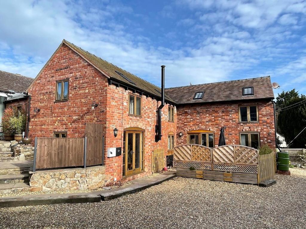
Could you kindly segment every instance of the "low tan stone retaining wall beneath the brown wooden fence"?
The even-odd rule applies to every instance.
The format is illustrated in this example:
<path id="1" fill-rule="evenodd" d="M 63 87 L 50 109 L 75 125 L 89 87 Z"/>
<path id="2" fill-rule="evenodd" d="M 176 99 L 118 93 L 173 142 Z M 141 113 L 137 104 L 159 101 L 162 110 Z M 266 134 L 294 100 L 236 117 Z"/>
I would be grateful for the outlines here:
<path id="1" fill-rule="evenodd" d="M 30 191 L 87 190 L 103 187 L 105 166 L 30 172 Z"/>

